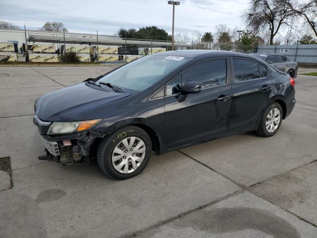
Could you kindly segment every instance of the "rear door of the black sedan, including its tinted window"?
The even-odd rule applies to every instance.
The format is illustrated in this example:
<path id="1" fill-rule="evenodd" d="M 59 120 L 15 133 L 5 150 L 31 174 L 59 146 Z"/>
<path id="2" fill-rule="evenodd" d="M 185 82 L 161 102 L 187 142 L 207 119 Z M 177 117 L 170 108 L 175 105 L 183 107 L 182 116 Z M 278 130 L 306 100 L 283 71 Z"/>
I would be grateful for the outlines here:
<path id="1" fill-rule="evenodd" d="M 256 60 L 232 58 L 232 65 L 234 80 L 229 132 L 248 129 L 258 123 L 275 83 L 270 79 L 267 67 Z"/>

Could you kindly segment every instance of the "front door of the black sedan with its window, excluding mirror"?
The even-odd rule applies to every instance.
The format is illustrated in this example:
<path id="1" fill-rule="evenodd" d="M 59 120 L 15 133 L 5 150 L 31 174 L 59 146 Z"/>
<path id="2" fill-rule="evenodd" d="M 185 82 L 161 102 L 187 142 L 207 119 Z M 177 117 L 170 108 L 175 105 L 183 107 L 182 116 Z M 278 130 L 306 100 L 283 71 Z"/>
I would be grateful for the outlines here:
<path id="1" fill-rule="evenodd" d="M 181 95 L 181 85 L 188 81 L 200 82 L 202 91 Z M 166 84 L 166 147 L 172 149 L 228 133 L 230 109 L 227 59 L 204 60 L 188 67 Z"/>

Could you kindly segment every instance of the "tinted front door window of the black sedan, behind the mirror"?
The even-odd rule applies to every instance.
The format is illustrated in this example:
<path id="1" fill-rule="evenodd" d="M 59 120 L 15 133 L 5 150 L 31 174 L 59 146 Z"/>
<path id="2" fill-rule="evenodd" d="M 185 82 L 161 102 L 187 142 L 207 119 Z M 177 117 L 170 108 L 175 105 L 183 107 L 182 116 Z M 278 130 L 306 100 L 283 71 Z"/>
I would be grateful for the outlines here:
<path id="1" fill-rule="evenodd" d="M 183 84 L 188 81 L 197 81 L 202 88 L 209 88 L 226 84 L 227 61 L 226 59 L 208 60 L 199 62 L 185 69 L 182 73 Z"/>

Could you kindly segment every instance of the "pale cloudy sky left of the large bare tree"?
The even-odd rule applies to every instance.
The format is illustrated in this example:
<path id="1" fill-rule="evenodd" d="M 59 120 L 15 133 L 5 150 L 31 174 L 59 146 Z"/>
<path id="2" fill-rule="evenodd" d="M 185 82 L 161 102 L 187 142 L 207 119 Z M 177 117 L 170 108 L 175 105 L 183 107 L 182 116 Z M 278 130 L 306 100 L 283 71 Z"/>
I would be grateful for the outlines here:
<path id="1" fill-rule="evenodd" d="M 215 29 L 217 24 L 244 28 L 240 17 L 249 0 L 179 0 L 175 33 Z M 37 30 L 47 21 L 64 23 L 69 32 L 113 35 L 118 29 L 155 25 L 172 31 L 167 0 L 0 0 L 0 20 Z"/>

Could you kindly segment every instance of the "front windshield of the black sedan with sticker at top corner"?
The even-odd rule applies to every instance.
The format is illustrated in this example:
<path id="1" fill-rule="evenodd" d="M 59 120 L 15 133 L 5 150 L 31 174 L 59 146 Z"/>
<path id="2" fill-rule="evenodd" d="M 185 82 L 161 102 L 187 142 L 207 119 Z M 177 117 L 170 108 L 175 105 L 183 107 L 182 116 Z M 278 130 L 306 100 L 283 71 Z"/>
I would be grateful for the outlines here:
<path id="1" fill-rule="evenodd" d="M 97 82 L 142 91 L 154 85 L 169 72 L 187 62 L 188 58 L 151 55 L 128 63 Z"/>

